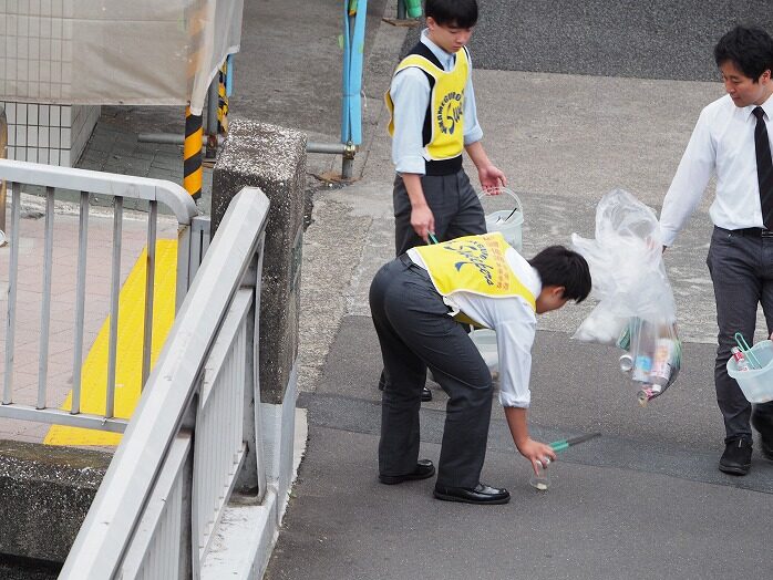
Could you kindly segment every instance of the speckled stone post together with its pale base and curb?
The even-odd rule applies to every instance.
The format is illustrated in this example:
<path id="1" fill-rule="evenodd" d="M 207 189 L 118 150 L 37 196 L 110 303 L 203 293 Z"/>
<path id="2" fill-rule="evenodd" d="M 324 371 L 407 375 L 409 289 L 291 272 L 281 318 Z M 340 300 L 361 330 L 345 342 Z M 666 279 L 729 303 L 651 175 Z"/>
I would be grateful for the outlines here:
<path id="1" fill-rule="evenodd" d="M 307 437 L 305 426 L 298 429 L 296 424 L 306 135 L 231 118 L 213 176 L 212 236 L 233 197 L 247 186 L 259 187 L 271 204 L 262 263 L 258 355 L 268 489 L 260 504 L 231 498 L 202 568 L 203 580 L 262 577 Z"/>

